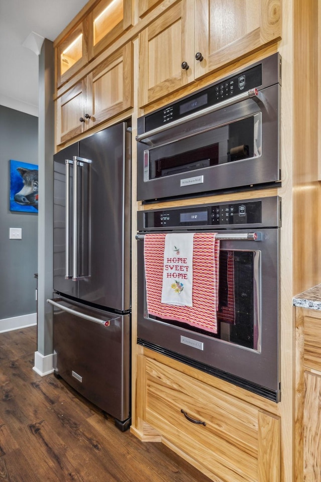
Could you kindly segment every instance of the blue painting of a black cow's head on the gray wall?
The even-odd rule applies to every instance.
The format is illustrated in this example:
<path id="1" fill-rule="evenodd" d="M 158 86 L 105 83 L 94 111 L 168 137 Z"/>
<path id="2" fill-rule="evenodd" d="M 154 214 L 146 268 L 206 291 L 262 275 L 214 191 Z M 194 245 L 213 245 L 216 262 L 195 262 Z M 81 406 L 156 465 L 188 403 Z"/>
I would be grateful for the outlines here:
<path id="1" fill-rule="evenodd" d="M 10 210 L 38 212 L 38 166 L 10 161 Z"/>

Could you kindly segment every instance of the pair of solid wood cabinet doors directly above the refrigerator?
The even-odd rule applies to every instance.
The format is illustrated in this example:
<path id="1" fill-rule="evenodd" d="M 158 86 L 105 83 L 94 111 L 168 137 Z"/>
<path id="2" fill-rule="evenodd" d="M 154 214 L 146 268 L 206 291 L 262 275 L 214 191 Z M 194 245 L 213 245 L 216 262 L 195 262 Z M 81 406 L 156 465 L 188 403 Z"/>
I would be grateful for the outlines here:
<path id="1" fill-rule="evenodd" d="M 129 42 L 57 99 L 57 145 L 133 105 L 132 55 Z"/>

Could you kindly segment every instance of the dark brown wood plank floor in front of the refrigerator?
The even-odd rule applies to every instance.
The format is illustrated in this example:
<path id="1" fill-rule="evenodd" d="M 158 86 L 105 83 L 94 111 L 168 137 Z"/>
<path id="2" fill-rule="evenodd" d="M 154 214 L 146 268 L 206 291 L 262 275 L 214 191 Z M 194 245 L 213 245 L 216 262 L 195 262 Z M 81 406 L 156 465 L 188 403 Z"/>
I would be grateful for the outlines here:
<path id="1" fill-rule="evenodd" d="M 210 482 L 161 443 L 144 443 L 54 375 L 32 370 L 36 327 L 0 333 L 0 480 Z"/>

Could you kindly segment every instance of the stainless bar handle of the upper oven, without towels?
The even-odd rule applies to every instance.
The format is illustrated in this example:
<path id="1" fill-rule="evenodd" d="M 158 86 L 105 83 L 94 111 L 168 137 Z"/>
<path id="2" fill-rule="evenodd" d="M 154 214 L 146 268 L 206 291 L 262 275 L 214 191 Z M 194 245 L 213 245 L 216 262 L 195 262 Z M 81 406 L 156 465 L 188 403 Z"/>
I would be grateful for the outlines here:
<path id="1" fill-rule="evenodd" d="M 155 134 L 160 134 L 161 132 L 172 129 L 173 127 L 180 126 L 181 124 L 185 124 L 186 122 L 192 121 L 193 119 L 197 119 L 202 115 L 210 114 L 211 112 L 215 112 L 216 110 L 223 109 L 225 107 L 228 107 L 229 105 L 236 104 L 238 102 L 241 102 L 242 100 L 246 100 L 251 97 L 254 97 L 253 100 L 261 100 L 262 94 L 258 91 L 256 87 L 250 90 L 246 90 L 241 94 L 235 95 L 235 97 L 222 100 L 222 102 L 218 102 L 215 105 L 210 105 L 205 109 L 199 110 L 197 112 L 193 112 L 192 114 L 186 115 L 183 118 L 176 119 L 176 121 L 166 123 L 161 127 L 157 127 L 156 129 L 151 129 L 150 131 L 147 131 L 143 134 L 138 134 L 138 136 L 136 136 L 135 139 L 137 142 L 143 141 L 144 139 L 154 136 Z"/>

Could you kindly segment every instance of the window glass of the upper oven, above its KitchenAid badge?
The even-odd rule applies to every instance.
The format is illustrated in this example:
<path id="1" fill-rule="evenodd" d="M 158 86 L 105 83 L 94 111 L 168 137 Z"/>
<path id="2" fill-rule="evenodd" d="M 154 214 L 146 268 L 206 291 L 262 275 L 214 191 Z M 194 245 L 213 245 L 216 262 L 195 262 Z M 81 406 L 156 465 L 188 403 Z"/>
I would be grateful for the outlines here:
<path id="1" fill-rule="evenodd" d="M 145 181 L 261 155 L 261 112 L 145 151 Z"/>

